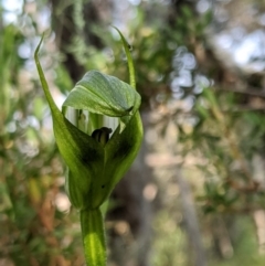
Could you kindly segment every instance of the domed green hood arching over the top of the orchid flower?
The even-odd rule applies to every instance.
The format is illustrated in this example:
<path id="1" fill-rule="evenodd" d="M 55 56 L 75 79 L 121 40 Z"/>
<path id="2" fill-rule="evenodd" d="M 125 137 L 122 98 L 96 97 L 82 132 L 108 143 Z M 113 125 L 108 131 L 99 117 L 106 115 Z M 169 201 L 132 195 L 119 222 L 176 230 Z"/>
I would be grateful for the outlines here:
<path id="1" fill-rule="evenodd" d="M 89 71 L 71 91 L 63 105 L 112 117 L 130 116 L 140 106 L 140 95 L 115 76 Z"/>

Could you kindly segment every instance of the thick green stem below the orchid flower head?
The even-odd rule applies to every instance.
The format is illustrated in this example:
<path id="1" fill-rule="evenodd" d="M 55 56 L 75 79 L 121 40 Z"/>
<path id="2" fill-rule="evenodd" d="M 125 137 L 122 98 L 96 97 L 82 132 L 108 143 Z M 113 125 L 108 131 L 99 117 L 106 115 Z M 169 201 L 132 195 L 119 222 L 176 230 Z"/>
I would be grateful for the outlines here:
<path id="1" fill-rule="evenodd" d="M 99 208 L 81 211 L 81 230 L 87 266 L 106 266 L 105 232 Z"/>

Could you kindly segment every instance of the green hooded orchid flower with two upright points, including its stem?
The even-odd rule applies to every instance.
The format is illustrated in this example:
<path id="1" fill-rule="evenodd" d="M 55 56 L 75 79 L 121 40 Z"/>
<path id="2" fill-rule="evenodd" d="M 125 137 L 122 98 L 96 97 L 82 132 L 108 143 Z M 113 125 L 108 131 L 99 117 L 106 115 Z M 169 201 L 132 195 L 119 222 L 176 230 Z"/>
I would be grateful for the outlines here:
<path id="1" fill-rule="evenodd" d="M 68 168 L 66 191 L 71 203 L 81 212 L 85 257 L 89 266 L 102 266 L 106 263 L 99 208 L 132 163 L 142 140 L 142 125 L 138 111 L 140 95 L 135 89 L 132 60 L 126 40 L 119 31 L 118 33 L 128 58 L 130 85 L 98 71 L 89 71 L 71 91 L 63 104 L 63 111 L 51 96 L 38 57 L 43 38 L 34 54 L 52 113 L 55 140 Z M 88 119 L 94 120 L 94 128 L 91 128 L 88 135 L 65 117 L 67 107 L 88 111 Z M 98 125 L 95 120 L 103 116 L 115 117 L 119 121 L 112 136 L 112 129 L 95 127 Z"/>

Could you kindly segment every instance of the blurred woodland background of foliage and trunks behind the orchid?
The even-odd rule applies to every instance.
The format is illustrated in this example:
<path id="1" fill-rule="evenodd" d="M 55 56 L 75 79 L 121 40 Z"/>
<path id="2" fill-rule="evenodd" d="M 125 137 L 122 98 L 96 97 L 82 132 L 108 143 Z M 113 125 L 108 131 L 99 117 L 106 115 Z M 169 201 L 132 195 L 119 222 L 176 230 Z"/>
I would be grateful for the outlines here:
<path id="1" fill-rule="evenodd" d="M 0 265 L 84 265 L 33 52 L 56 103 L 86 71 L 128 82 L 145 141 L 107 215 L 108 265 L 265 263 L 265 3 L 0 1 Z"/>

